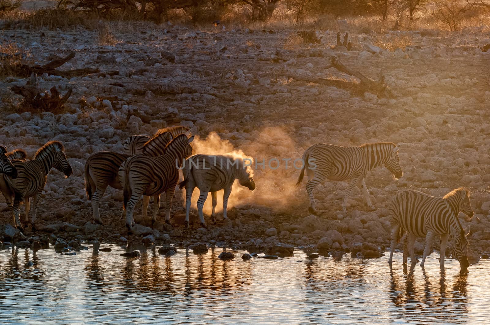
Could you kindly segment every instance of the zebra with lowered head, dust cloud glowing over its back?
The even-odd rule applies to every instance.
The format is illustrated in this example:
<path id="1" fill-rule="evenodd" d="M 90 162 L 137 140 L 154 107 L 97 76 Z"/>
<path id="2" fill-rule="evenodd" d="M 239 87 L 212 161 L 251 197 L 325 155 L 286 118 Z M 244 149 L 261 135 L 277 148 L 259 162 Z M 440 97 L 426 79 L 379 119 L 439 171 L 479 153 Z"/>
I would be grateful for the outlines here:
<path id="1" fill-rule="evenodd" d="M 216 205 L 218 204 L 216 196 L 217 191 L 224 189 L 223 219 L 226 219 L 228 198 L 235 180 L 238 180 L 240 185 L 248 187 L 248 189 L 251 191 L 255 189 L 255 183 L 250 175 L 250 170 L 240 158 L 234 159 L 230 156 L 221 155 L 194 155 L 185 161 L 182 172 L 184 174 L 184 180 L 180 182 L 179 186 L 180 188 L 185 187 L 186 190 L 186 228 L 189 228 L 189 210 L 191 209 L 191 198 L 196 187 L 199 188 L 197 211 L 199 213 L 201 226 L 204 228 L 207 227 L 206 223 L 204 222 L 202 208 L 204 207 L 204 202 L 206 201 L 209 192 L 211 192 L 211 199 L 213 203 L 211 219 L 214 223 L 216 221 Z"/>

